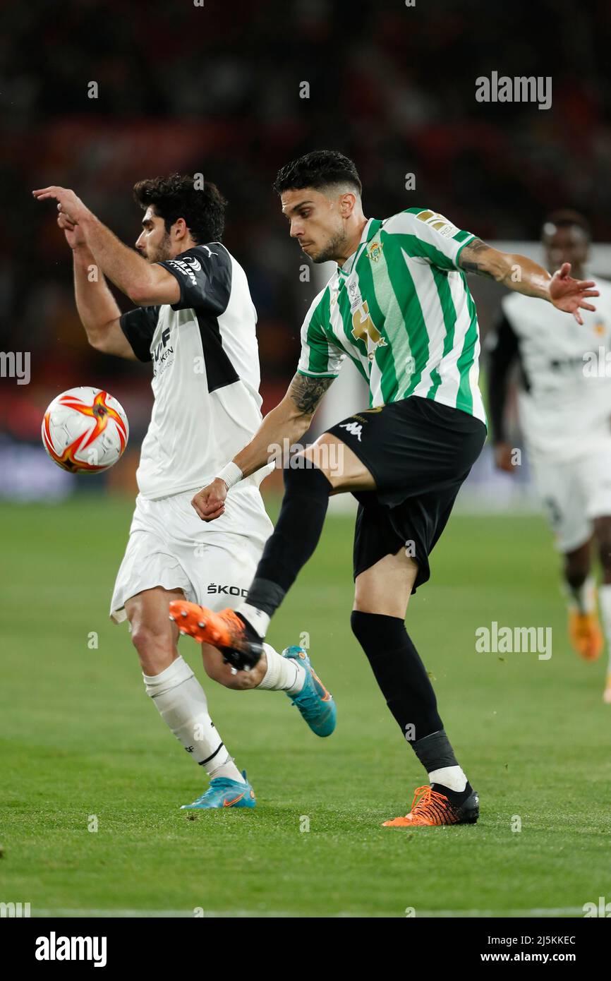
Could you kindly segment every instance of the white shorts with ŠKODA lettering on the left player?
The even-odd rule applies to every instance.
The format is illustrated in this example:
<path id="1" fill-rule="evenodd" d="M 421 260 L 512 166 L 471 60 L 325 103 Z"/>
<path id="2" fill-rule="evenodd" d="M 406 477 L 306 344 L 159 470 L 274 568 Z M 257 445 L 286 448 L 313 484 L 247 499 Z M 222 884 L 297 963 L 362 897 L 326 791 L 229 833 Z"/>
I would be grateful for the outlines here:
<path id="1" fill-rule="evenodd" d="M 225 513 L 202 521 L 191 507 L 196 491 L 149 500 L 138 494 L 110 615 L 126 619 L 126 600 L 163 586 L 213 610 L 234 606 L 254 578 L 274 531 L 256 487 L 232 488 Z"/>

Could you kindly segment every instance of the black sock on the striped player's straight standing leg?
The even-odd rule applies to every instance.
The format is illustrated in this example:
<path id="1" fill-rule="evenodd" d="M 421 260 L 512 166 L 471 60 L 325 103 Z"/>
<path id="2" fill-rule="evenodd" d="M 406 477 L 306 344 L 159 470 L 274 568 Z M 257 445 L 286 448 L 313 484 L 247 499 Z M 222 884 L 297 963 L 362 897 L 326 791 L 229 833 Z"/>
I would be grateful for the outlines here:
<path id="1" fill-rule="evenodd" d="M 354 610 L 350 623 L 369 658 L 386 704 L 410 746 L 443 729 L 433 685 L 403 620 Z"/>

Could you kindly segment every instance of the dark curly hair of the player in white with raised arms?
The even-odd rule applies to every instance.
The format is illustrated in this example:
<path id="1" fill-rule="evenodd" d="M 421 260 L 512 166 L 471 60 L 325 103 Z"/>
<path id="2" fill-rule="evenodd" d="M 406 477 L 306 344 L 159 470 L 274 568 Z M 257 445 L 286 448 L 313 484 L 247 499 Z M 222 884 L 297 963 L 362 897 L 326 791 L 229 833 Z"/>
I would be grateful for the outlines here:
<path id="1" fill-rule="evenodd" d="M 201 189 L 194 184 L 188 174 L 149 178 L 133 185 L 133 198 L 143 211 L 153 205 L 155 214 L 164 220 L 166 232 L 170 232 L 178 218 L 183 218 L 191 238 L 198 244 L 221 241 L 227 201 L 211 181 L 204 181 Z"/>

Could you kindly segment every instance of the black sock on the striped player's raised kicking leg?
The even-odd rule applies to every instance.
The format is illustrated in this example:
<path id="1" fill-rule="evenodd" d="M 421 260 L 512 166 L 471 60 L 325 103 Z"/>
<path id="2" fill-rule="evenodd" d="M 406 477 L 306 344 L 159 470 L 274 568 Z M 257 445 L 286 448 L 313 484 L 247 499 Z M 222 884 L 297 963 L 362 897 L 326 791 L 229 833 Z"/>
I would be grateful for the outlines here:
<path id="1" fill-rule="evenodd" d="M 272 616 L 316 548 L 329 506 L 331 484 L 318 467 L 284 471 L 284 496 L 246 602 Z"/>

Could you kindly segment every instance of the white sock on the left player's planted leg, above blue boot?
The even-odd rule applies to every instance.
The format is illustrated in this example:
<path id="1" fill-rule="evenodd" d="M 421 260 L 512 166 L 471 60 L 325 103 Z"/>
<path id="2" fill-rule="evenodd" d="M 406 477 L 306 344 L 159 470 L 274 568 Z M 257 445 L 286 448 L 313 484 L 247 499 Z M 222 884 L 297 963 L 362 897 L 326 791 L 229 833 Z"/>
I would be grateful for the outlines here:
<path id="1" fill-rule="evenodd" d="M 162 719 L 208 776 L 229 777 L 243 783 L 208 714 L 204 690 L 186 661 L 178 656 L 161 674 L 142 677 L 146 694 L 157 705 Z"/>

